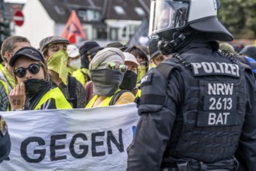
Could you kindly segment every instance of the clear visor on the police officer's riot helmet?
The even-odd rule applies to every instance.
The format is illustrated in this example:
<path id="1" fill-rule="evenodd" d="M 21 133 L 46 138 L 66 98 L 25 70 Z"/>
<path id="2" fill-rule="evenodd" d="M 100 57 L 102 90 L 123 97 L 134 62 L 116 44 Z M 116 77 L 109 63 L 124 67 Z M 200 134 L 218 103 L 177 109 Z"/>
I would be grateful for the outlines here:
<path id="1" fill-rule="evenodd" d="M 149 37 L 165 30 L 181 28 L 188 18 L 188 3 L 154 0 L 150 6 Z"/>

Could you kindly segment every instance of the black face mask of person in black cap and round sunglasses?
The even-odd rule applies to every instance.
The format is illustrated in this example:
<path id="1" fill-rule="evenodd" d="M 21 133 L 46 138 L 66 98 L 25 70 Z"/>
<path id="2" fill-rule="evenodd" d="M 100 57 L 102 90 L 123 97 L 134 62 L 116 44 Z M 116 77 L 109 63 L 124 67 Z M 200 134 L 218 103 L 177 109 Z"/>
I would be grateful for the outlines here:
<path id="1" fill-rule="evenodd" d="M 33 96 L 46 88 L 48 82 L 44 79 L 26 79 L 25 89 L 26 96 Z"/>

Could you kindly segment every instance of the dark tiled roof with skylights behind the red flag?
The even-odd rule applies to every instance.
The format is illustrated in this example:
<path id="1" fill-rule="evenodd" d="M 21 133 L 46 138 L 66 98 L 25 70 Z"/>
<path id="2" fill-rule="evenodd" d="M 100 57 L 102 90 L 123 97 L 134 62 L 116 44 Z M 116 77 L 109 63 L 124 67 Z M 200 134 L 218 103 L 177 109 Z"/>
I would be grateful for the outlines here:
<path id="1" fill-rule="evenodd" d="M 76 12 L 96 10 L 100 13 L 99 22 L 104 19 L 142 20 L 149 16 L 150 6 L 149 0 L 40 0 L 40 3 L 56 23 L 66 23 L 72 9 Z"/>

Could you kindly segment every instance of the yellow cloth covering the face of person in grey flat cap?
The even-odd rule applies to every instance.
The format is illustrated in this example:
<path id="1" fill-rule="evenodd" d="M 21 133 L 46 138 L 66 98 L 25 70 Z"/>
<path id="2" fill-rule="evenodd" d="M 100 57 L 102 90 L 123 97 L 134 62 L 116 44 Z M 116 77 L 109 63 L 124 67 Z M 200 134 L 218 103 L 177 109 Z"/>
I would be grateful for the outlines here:
<path id="1" fill-rule="evenodd" d="M 61 49 L 56 53 L 52 54 L 47 61 L 47 66 L 49 70 L 57 72 L 61 81 L 68 85 L 68 54 L 65 50 Z"/>

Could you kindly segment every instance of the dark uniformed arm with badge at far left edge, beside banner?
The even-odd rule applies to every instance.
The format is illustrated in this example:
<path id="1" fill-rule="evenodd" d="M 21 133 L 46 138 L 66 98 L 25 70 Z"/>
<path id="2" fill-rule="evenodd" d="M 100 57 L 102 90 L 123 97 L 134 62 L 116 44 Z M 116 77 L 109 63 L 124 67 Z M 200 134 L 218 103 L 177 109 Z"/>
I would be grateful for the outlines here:
<path id="1" fill-rule="evenodd" d="M 9 159 L 8 155 L 11 150 L 11 141 L 7 130 L 7 124 L 0 115 L 0 163 L 4 159 Z"/>

